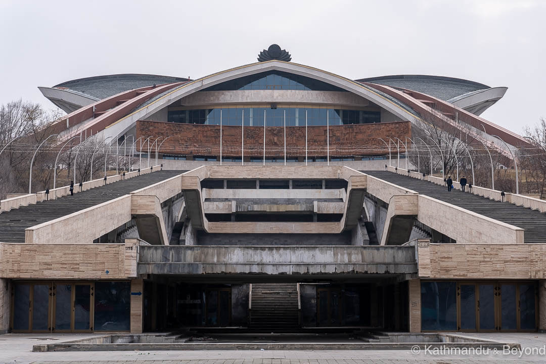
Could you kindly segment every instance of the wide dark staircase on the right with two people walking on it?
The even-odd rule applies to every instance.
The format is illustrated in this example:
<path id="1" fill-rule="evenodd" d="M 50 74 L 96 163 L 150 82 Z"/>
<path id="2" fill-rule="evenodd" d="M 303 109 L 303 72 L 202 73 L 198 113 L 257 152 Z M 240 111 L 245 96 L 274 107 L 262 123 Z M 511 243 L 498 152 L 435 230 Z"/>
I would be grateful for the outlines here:
<path id="1" fill-rule="evenodd" d="M 524 229 L 525 243 L 546 243 L 546 213 L 516 206 L 508 202 L 490 200 L 460 190 L 447 191 L 447 187 L 435 183 L 418 180 L 393 172 L 362 171 L 384 181 L 412 189 L 419 194 L 427 195 L 437 200 L 465 208 L 492 219 L 518 226 Z M 469 222 L 472 224 L 472 222 Z"/>

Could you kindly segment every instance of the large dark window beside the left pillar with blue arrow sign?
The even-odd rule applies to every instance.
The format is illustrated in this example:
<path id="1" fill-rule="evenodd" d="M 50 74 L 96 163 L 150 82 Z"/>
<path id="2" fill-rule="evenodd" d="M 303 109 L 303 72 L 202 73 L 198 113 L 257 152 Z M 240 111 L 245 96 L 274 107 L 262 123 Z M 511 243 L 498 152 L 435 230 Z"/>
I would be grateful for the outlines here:
<path id="1" fill-rule="evenodd" d="M 130 283 L 95 283 L 96 331 L 130 330 Z"/>

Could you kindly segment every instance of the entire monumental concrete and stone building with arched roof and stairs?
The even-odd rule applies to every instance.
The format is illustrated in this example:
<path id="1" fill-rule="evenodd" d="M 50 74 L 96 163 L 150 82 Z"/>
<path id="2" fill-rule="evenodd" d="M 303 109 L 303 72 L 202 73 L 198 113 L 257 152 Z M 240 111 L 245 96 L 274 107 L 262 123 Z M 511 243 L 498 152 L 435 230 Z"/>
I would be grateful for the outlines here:
<path id="1" fill-rule="evenodd" d="M 506 88 L 258 61 L 40 88 L 158 163 L 0 202 L 0 331 L 546 329 L 546 202 L 395 162 L 432 122 L 526 145 L 479 117 Z"/>

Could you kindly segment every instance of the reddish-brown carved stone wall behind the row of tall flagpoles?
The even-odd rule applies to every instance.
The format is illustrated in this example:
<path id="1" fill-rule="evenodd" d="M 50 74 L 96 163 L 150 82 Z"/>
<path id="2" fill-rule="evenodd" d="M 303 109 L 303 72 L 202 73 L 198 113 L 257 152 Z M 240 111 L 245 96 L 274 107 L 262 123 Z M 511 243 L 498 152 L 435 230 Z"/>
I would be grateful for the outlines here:
<path id="1" fill-rule="evenodd" d="M 286 128 L 286 150 L 288 157 L 305 156 L 305 127 Z M 222 127 L 222 156 L 241 156 L 241 133 L 239 126 Z M 308 156 L 327 155 L 327 127 L 307 128 Z M 387 147 L 377 138 L 411 137 L 410 122 L 376 124 L 354 124 L 330 126 L 330 156 L 366 156 L 388 153 Z M 138 121 L 136 138 L 149 135 L 170 136 L 161 147 L 165 154 L 219 156 L 220 127 L 216 125 L 162 123 Z M 263 156 L 263 127 L 244 128 L 245 156 Z M 284 155 L 284 128 L 265 128 L 266 155 Z M 147 152 L 147 149 L 146 149 Z"/>

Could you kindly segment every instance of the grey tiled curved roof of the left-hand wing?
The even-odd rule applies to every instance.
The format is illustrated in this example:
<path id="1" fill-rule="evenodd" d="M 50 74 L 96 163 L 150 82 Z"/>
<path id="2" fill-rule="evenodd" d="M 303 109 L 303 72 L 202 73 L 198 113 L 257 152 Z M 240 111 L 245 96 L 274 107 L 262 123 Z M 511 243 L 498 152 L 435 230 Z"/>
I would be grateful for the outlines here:
<path id="1" fill-rule="evenodd" d="M 86 77 L 84 79 L 71 80 L 59 83 L 54 87 L 69 88 L 98 99 L 105 99 L 129 89 L 145 86 L 162 85 L 163 83 L 187 81 L 180 77 L 143 75 L 143 74 L 119 74 Z"/>

